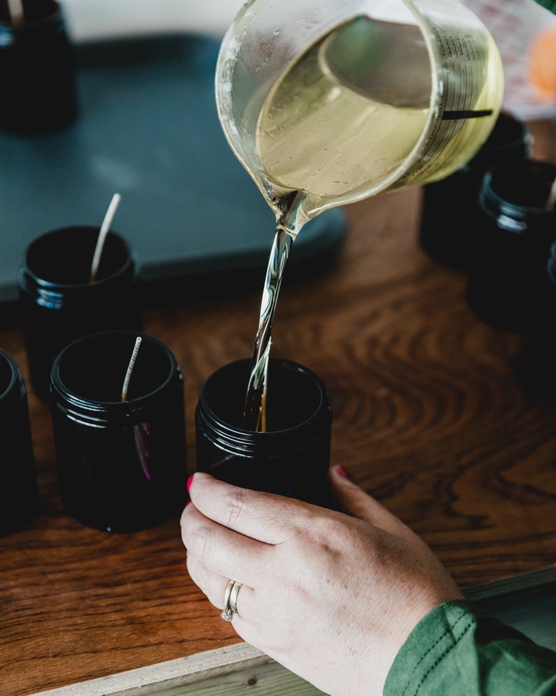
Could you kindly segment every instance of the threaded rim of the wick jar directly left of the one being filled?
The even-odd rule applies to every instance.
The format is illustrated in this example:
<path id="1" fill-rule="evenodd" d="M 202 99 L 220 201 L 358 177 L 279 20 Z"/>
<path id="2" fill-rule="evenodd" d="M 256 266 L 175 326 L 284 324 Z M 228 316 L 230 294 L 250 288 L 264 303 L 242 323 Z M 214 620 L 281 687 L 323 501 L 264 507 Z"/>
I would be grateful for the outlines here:
<path id="1" fill-rule="evenodd" d="M 144 355 L 145 348 L 147 348 L 147 350 L 151 350 L 151 355 L 153 350 L 156 350 L 158 355 L 164 356 L 164 365 L 161 364 L 160 369 L 152 375 L 153 383 L 156 383 L 155 387 L 142 391 L 140 395 L 133 395 L 130 390 L 129 397 L 125 401 L 118 399 L 102 399 L 96 396 L 81 395 L 76 390 L 76 384 L 78 384 L 79 378 L 77 378 L 74 383 L 71 383 L 67 377 L 64 377 L 64 371 L 69 369 L 64 365 L 64 361 L 69 359 L 71 353 L 74 353 L 77 359 L 83 357 L 83 353 L 80 355 L 80 351 L 85 350 L 86 344 L 97 341 L 99 346 L 101 346 L 103 342 L 109 340 L 126 341 L 126 346 L 129 346 L 129 351 L 125 353 L 124 357 L 127 356 L 128 361 L 131 357 L 132 348 L 137 336 L 141 336 L 142 339 L 139 353 L 141 353 L 142 350 Z M 137 360 L 139 361 L 139 354 Z M 78 367 L 79 364 L 79 360 L 76 360 L 70 367 Z M 121 364 L 127 366 L 126 361 Z M 104 363 L 104 365 L 106 365 L 106 363 Z M 85 369 L 86 366 L 82 365 L 82 367 Z M 162 378 L 156 378 L 161 375 L 163 376 Z M 114 384 L 115 393 L 123 384 L 125 369 L 123 371 L 119 369 L 117 376 L 120 377 L 120 381 Z M 113 329 L 111 331 L 97 332 L 95 334 L 82 336 L 80 339 L 70 343 L 69 346 L 66 346 L 57 355 L 53 362 L 52 370 L 50 371 L 50 397 L 53 404 L 57 403 L 58 406 L 62 405 L 64 409 L 71 410 L 79 418 L 90 417 L 92 421 L 97 421 L 102 420 L 104 414 L 107 412 L 123 416 L 125 414 L 139 413 L 146 407 L 146 404 L 148 404 L 149 408 L 155 408 L 158 398 L 164 397 L 167 388 L 172 381 L 176 379 L 176 376 L 181 381 L 181 371 L 176 356 L 165 343 L 162 343 L 162 341 L 156 339 L 154 336 L 142 332 L 134 332 L 127 329 Z M 88 378 L 92 379 L 93 377 L 94 374 Z"/>

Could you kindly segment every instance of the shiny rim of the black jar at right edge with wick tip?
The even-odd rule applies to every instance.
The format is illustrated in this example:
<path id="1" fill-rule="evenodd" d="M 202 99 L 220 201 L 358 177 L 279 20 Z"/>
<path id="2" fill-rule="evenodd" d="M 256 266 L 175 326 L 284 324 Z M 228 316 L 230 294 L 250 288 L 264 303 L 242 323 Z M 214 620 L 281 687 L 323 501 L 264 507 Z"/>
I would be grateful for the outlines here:
<path id="1" fill-rule="evenodd" d="M 534 196 L 538 197 L 538 204 L 523 197 L 533 191 L 532 186 L 524 189 L 524 182 L 531 175 L 536 178 Z M 499 163 L 489 169 L 482 180 L 480 207 L 502 228 L 514 232 L 525 231 L 528 224 L 556 216 L 555 208 L 541 205 L 548 198 L 555 179 L 556 165 L 550 162 L 522 158 Z"/>

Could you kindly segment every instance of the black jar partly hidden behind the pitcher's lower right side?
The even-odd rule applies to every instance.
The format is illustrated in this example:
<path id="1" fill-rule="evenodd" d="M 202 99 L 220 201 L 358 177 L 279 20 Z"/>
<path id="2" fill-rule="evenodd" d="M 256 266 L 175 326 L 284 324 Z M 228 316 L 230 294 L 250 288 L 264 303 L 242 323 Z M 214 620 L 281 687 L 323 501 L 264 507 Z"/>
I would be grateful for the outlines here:
<path id="1" fill-rule="evenodd" d="M 479 151 L 449 177 L 423 187 L 419 245 L 445 266 L 468 271 L 481 250 L 478 195 L 487 170 L 527 158 L 532 139 L 527 124 L 501 111 Z"/>

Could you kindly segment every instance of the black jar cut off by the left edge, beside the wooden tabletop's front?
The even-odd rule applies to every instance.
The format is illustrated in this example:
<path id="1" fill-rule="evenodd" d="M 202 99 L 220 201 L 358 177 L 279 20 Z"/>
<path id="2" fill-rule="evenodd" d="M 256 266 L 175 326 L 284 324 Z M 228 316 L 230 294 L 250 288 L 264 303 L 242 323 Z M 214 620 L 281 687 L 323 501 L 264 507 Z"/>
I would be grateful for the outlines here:
<path id="1" fill-rule="evenodd" d="M 11 355 L 0 350 L 0 535 L 33 519 L 39 510 L 27 392 Z"/>

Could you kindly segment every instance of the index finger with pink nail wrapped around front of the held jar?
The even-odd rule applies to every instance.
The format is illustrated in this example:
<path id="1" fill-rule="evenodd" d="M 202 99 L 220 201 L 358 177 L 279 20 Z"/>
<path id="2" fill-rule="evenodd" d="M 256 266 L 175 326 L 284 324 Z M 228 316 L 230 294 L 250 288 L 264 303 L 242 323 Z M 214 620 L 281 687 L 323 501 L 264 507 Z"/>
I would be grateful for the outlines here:
<path id="1" fill-rule="evenodd" d="M 190 479 L 189 496 L 205 517 L 265 544 L 284 543 L 310 514 L 308 503 L 232 486 L 204 472 Z"/>

